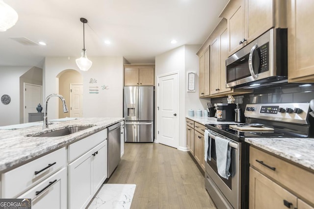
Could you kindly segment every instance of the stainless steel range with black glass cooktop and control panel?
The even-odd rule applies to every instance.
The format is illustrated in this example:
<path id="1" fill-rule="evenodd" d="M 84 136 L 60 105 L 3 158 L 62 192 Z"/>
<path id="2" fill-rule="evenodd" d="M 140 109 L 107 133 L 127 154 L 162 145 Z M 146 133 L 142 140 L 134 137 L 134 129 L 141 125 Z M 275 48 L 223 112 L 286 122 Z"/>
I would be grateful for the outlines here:
<path id="1" fill-rule="evenodd" d="M 218 209 L 248 208 L 249 145 L 244 139 L 312 137 L 310 110 L 310 103 L 248 104 L 244 112 L 246 124 L 205 125 L 209 132 L 205 187 Z M 217 171 L 217 137 L 229 141 L 228 179 Z"/>

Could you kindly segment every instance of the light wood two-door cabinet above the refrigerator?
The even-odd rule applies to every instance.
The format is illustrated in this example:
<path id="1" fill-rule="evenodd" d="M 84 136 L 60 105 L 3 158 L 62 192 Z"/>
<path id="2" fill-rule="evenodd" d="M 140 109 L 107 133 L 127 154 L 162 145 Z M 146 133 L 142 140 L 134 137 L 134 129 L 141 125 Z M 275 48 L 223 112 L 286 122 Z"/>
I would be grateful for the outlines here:
<path id="1" fill-rule="evenodd" d="M 124 65 L 125 86 L 154 86 L 155 65 Z"/>

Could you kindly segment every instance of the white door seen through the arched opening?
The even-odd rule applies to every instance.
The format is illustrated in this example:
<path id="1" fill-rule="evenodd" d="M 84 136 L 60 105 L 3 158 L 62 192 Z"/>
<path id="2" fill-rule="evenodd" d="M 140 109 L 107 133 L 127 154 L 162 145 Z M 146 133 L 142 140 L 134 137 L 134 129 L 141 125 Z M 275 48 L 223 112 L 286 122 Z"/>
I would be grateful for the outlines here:
<path id="1" fill-rule="evenodd" d="M 82 84 L 70 84 L 70 117 L 83 117 Z"/>

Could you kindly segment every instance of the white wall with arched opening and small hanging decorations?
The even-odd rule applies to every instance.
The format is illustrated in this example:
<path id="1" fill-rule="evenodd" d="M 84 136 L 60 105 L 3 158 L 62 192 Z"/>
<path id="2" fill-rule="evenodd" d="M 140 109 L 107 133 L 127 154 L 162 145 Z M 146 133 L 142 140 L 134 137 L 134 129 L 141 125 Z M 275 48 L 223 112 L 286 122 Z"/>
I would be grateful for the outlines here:
<path id="1" fill-rule="evenodd" d="M 46 57 L 44 65 L 44 96 L 58 93 L 58 74 L 67 69 L 77 70 L 83 76 L 83 116 L 84 117 L 122 117 L 123 109 L 123 57 L 89 57 L 92 67 L 86 71 L 78 70 L 75 58 Z M 89 83 L 96 79 L 97 83 Z M 102 86 L 108 90 L 103 90 Z M 97 86 L 98 94 L 89 93 L 89 87 Z M 54 100 L 54 101 L 52 101 Z M 69 103 L 69 101 L 66 101 Z M 51 98 L 48 104 L 48 119 L 58 117 L 58 98 Z"/>

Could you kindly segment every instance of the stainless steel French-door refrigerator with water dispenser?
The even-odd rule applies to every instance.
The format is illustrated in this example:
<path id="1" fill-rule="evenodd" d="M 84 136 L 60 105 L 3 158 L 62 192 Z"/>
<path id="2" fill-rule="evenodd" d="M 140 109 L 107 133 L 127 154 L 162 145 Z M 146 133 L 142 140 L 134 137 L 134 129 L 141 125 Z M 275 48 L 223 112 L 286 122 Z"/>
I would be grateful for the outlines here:
<path id="1" fill-rule="evenodd" d="M 154 141 L 154 87 L 124 87 L 126 142 Z"/>

